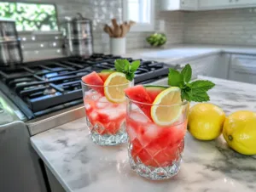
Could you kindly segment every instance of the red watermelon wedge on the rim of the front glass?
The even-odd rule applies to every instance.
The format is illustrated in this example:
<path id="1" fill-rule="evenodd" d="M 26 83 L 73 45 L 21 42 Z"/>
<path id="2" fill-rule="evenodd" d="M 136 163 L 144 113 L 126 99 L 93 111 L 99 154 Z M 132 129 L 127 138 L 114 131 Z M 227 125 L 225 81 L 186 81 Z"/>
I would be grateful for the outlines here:
<path id="1" fill-rule="evenodd" d="M 129 97 L 129 99 L 146 103 L 146 104 L 139 104 L 139 103 L 134 103 L 137 104 L 137 106 L 143 110 L 143 113 L 148 116 L 150 120 L 151 118 L 151 105 L 153 103 L 153 100 L 150 98 L 148 95 L 148 92 L 142 85 L 137 85 L 131 88 L 126 88 L 125 89 L 126 95 Z"/>

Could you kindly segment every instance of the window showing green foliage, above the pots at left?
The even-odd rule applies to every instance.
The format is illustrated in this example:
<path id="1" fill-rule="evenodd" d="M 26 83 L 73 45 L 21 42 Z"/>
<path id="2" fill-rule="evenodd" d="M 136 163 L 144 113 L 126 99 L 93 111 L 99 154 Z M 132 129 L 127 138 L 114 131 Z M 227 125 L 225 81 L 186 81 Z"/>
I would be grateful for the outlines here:
<path id="1" fill-rule="evenodd" d="M 17 31 L 57 31 L 53 4 L 0 2 L 0 17 L 14 19 Z"/>

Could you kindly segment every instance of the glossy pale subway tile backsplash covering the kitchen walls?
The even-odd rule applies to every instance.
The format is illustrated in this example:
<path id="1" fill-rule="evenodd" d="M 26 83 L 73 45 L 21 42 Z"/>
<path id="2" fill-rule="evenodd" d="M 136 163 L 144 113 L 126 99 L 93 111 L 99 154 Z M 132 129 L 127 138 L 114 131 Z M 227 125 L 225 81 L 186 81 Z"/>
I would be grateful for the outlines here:
<path id="1" fill-rule="evenodd" d="M 32 2 L 34 0 L 20 0 Z M 165 23 L 167 46 L 179 43 L 208 43 L 256 45 L 256 10 L 241 8 L 216 11 L 159 11 L 159 1 L 155 0 L 155 23 Z M 65 16 L 82 13 L 93 20 L 94 49 L 97 53 L 108 52 L 108 36 L 103 33 L 103 25 L 115 17 L 122 20 L 122 0 L 44 0 L 55 3 L 59 23 Z M 157 27 L 156 27 L 157 28 Z M 126 38 L 127 50 L 144 48 L 145 38 L 151 32 L 130 32 Z M 62 55 L 61 33 L 35 34 L 20 33 L 26 59 L 44 59 Z"/>

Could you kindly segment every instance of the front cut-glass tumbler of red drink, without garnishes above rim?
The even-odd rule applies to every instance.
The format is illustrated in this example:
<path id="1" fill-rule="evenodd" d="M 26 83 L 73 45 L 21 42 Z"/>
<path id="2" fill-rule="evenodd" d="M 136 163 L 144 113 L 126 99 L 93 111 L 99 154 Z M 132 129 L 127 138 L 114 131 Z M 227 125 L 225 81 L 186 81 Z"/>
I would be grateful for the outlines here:
<path id="1" fill-rule="evenodd" d="M 189 103 L 158 105 L 164 109 L 165 116 L 172 116 L 172 111 L 180 109 L 179 115 L 173 117 L 171 125 L 159 126 L 150 117 L 150 109 L 155 105 L 128 98 L 126 100 L 126 130 L 129 136 L 128 155 L 131 168 L 144 178 L 172 178 L 179 171 L 182 161 Z"/>

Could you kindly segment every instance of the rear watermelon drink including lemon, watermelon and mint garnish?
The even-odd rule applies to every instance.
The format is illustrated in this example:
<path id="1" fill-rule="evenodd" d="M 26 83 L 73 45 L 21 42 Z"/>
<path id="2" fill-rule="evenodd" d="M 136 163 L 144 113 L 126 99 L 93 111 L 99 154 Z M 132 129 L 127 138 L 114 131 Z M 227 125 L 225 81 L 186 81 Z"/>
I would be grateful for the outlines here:
<path id="1" fill-rule="evenodd" d="M 125 69 L 130 67 L 128 75 L 125 65 Z M 133 85 L 133 73 L 138 66 L 139 61 L 130 65 L 126 59 L 117 59 L 116 70 L 94 71 L 82 77 L 86 124 L 94 143 L 116 145 L 127 142 L 124 89 Z"/>

